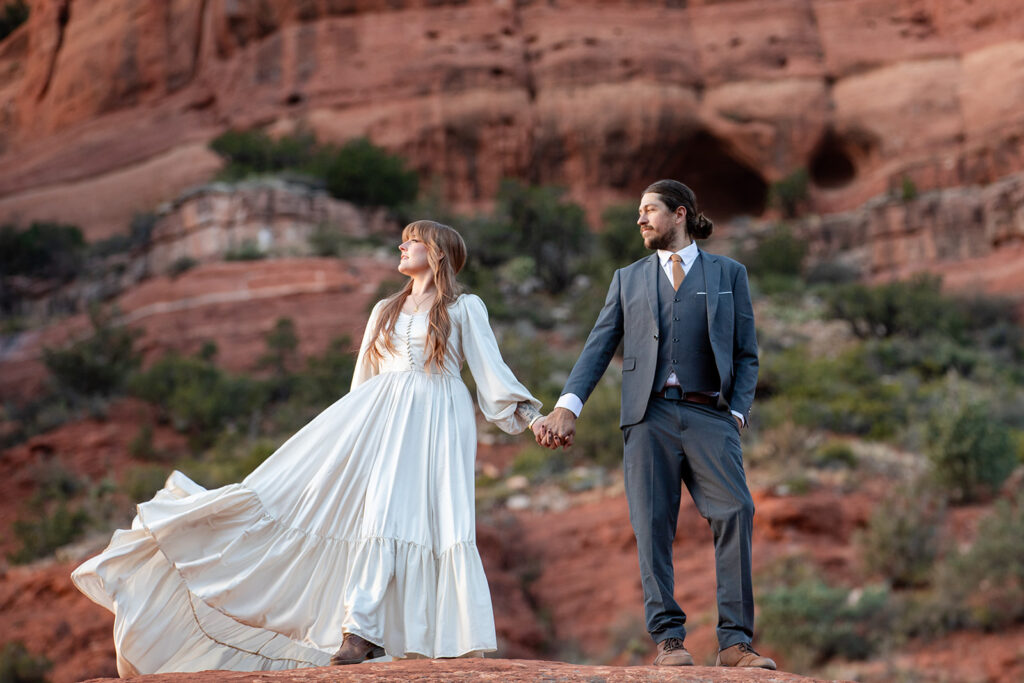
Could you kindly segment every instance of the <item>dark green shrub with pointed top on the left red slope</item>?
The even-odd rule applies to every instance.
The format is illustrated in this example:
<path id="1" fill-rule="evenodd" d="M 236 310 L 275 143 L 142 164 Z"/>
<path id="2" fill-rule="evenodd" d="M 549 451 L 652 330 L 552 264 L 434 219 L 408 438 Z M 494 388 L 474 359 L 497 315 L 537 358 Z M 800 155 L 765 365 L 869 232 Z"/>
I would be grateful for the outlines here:
<path id="1" fill-rule="evenodd" d="M 62 349 L 43 348 L 43 362 L 57 389 L 71 395 L 110 396 L 124 386 L 138 368 L 138 332 L 119 326 L 114 313 L 98 307 L 89 311 L 92 334 Z"/>

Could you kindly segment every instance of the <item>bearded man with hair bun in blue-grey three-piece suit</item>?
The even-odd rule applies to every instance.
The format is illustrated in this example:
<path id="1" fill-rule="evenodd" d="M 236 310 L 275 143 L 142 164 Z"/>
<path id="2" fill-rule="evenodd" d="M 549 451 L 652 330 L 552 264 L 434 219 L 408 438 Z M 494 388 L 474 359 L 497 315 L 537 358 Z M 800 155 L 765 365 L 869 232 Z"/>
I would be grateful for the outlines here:
<path id="1" fill-rule="evenodd" d="M 686 614 L 673 596 L 681 482 L 711 524 L 718 578 L 717 666 L 775 669 L 751 647 L 754 502 L 739 430 L 754 399 L 758 345 L 742 265 L 697 249 L 712 222 L 693 190 L 658 180 L 637 220 L 655 253 L 616 270 L 597 323 L 538 441 L 571 445 L 575 420 L 622 341 L 626 495 L 655 665 L 688 666 Z"/>

